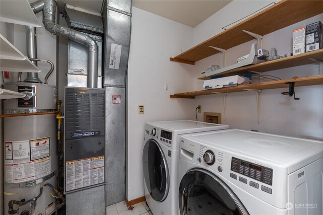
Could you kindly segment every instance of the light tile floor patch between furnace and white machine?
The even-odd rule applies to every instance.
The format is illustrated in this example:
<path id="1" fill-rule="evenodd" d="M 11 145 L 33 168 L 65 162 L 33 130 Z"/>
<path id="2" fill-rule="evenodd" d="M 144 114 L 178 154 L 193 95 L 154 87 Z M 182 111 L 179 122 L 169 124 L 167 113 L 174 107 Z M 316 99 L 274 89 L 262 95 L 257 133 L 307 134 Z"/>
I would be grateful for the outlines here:
<path id="1" fill-rule="evenodd" d="M 146 201 L 127 206 L 125 201 L 106 207 L 106 215 L 152 215 Z"/>

